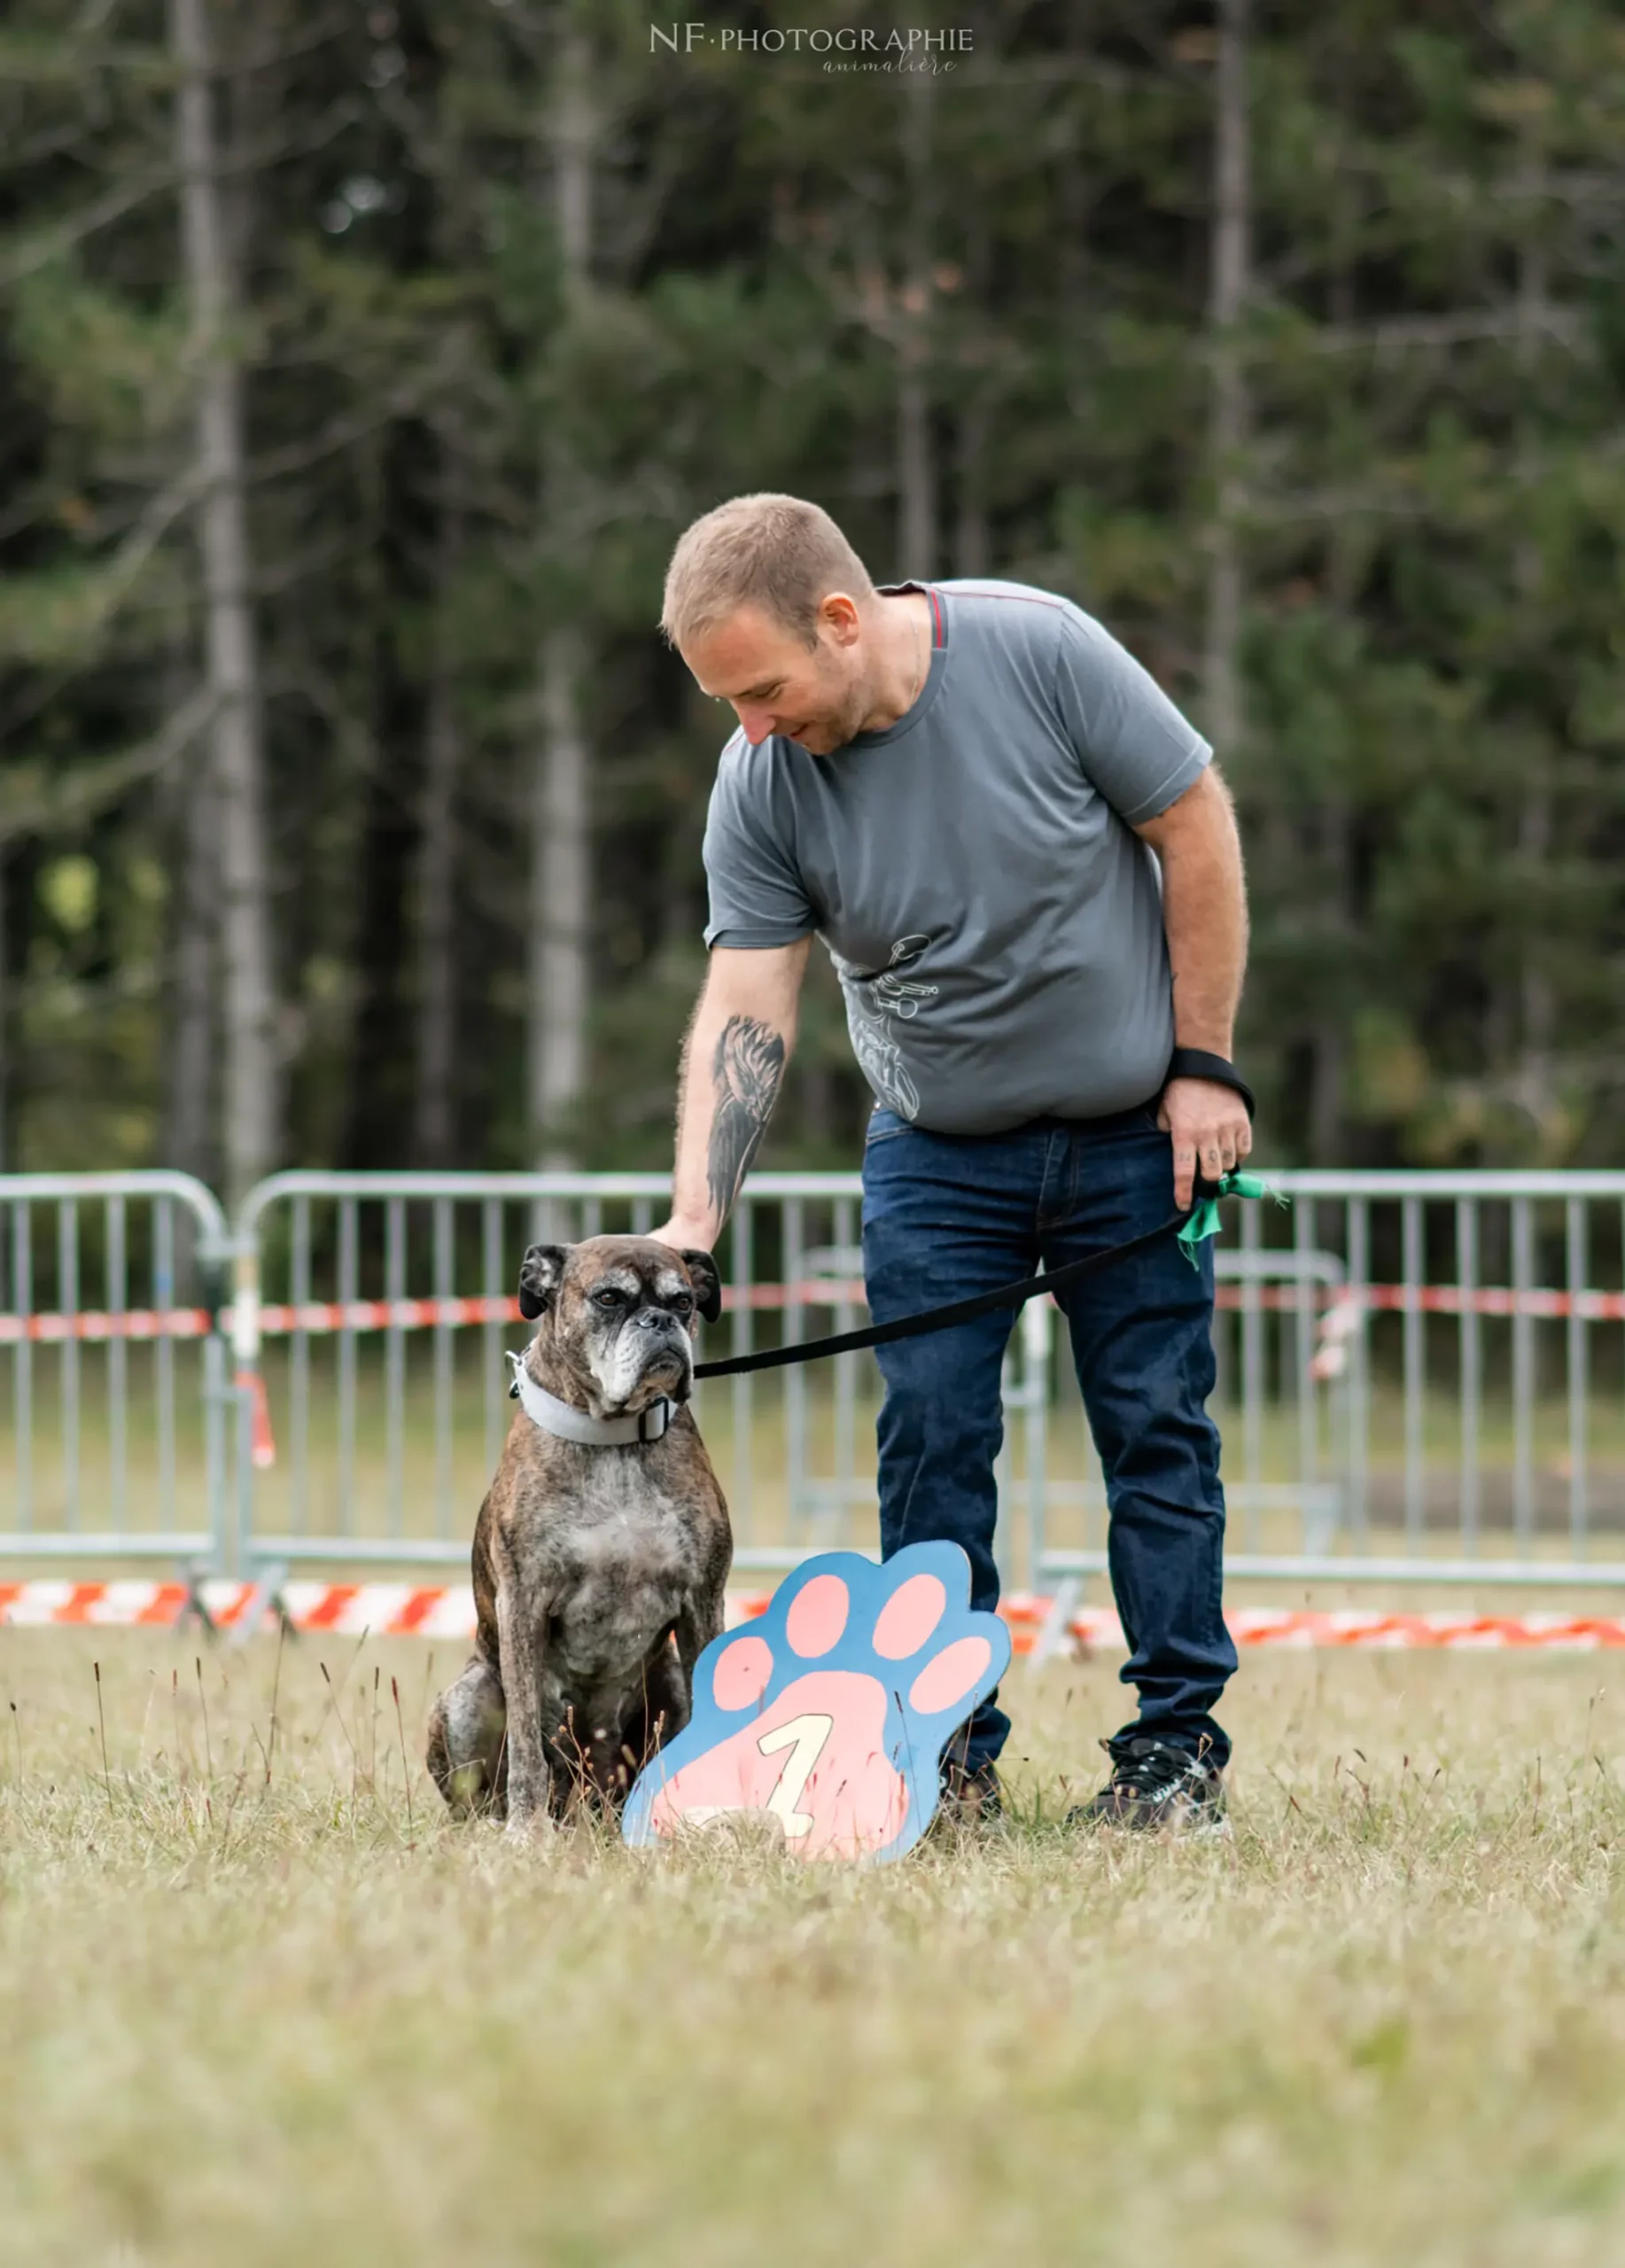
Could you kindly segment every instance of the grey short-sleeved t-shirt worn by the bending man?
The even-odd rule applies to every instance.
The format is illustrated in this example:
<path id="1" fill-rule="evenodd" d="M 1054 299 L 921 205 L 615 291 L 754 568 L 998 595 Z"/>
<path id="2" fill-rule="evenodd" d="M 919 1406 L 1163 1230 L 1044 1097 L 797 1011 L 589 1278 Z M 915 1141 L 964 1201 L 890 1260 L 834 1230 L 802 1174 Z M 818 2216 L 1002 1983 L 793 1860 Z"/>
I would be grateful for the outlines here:
<path id="1" fill-rule="evenodd" d="M 881 1105 L 937 1134 L 1101 1118 L 1169 1068 L 1173 993 L 1155 819 L 1212 751 L 1069 599 L 931 596 L 926 685 L 835 755 L 722 751 L 706 821 L 708 946 L 817 930 Z"/>

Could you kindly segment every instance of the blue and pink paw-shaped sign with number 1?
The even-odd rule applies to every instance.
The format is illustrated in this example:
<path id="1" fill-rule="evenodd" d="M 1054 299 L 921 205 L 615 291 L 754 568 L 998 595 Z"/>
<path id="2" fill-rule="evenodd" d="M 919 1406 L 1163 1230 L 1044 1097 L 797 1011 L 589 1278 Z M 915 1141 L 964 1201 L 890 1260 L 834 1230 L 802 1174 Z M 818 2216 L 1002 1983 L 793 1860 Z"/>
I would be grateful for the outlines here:
<path id="1" fill-rule="evenodd" d="M 694 1662 L 694 1715 L 638 1776 L 626 1842 L 767 1814 L 794 1857 L 912 1851 L 942 1751 L 1010 1665 L 1008 1628 L 969 1594 L 958 1545 L 806 1560 Z"/>

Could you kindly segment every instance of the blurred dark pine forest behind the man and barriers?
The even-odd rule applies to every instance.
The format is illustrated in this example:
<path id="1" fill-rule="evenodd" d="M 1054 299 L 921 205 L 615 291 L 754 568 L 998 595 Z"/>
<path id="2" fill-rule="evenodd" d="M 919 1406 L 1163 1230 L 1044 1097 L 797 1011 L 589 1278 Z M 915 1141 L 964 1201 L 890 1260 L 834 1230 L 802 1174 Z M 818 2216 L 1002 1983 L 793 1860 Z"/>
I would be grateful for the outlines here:
<path id="1" fill-rule="evenodd" d="M 14 0 L 0 200 L 2 1168 L 665 1168 L 749 488 L 1205 726 L 1262 1154 L 1625 1161 L 1611 0 Z"/>

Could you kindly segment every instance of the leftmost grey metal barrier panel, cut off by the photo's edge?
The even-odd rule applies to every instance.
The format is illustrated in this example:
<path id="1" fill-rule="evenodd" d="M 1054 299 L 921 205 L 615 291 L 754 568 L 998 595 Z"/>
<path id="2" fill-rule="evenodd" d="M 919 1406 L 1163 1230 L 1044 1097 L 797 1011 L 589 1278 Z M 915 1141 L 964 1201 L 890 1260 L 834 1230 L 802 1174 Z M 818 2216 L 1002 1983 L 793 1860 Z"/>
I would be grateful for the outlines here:
<path id="1" fill-rule="evenodd" d="M 0 1175 L 0 1558 L 218 1558 L 227 1256 L 182 1173 Z"/>

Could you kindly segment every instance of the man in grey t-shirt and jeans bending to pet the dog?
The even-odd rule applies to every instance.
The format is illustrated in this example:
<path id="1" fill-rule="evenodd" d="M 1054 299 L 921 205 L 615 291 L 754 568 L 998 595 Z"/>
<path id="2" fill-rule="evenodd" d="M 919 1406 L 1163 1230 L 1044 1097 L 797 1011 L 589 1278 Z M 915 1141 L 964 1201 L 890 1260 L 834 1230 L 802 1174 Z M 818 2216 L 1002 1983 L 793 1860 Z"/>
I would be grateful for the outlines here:
<path id="1" fill-rule="evenodd" d="M 672 1222 L 710 1250 L 794 1046 L 813 937 L 874 1089 L 862 1256 L 876 1322 L 1153 1229 L 1251 1150 L 1230 1036 L 1246 896 L 1212 751 L 1067 599 L 876 590 L 835 522 L 735 497 L 681 538 L 663 628 L 740 728 L 706 826 L 710 966 L 688 1034 Z M 1201 1050 L 1185 1066 L 1176 1050 Z M 1203 1075 L 1189 1077 L 1185 1070 Z M 1173 1073 L 1173 1075 L 1169 1075 Z M 1110 1501 L 1139 1717 L 1073 1819 L 1223 1830 L 1235 1669 L 1212 1256 L 1173 1236 L 1062 1300 Z M 1001 1311 L 881 1349 L 881 1547 L 992 1540 Z M 990 1701 L 944 1780 L 999 1810 Z"/>

